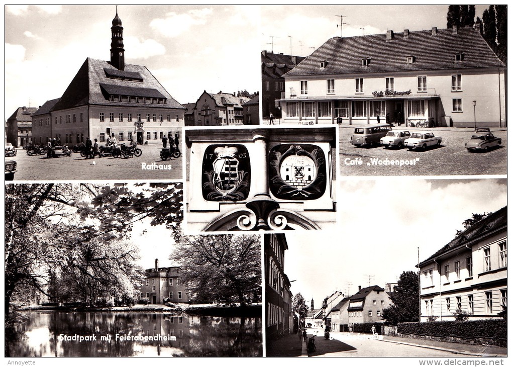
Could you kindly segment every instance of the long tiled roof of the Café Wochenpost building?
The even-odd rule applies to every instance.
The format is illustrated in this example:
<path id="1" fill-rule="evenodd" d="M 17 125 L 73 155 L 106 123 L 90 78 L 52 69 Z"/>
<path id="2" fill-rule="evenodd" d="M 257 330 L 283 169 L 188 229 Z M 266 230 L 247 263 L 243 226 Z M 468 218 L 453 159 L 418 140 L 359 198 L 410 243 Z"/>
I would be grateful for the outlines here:
<path id="1" fill-rule="evenodd" d="M 333 37 L 316 49 L 286 76 L 368 74 L 382 72 L 479 69 L 506 67 L 506 56 L 490 47 L 479 31 L 472 27 L 433 31 L 413 31 L 407 36 L 395 33 L 358 37 Z M 463 54 L 456 62 L 455 54 Z M 414 56 L 412 64 L 407 57 Z M 362 66 L 362 59 L 369 59 Z M 320 68 L 321 62 L 327 62 Z"/>

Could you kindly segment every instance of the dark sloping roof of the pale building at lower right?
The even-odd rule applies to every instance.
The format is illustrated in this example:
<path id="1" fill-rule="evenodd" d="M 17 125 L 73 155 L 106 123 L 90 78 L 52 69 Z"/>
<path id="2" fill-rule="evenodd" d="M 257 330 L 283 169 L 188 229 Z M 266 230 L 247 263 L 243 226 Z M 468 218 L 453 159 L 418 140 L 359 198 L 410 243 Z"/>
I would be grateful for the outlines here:
<path id="1" fill-rule="evenodd" d="M 461 234 L 451 240 L 449 243 L 445 244 L 439 251 L 437 251 L 434 255 L 429 257 L 428 259 L 422 261 L 419 265 L 421 266 L 423 263 L 435 259 L 439 257 L 444 252 L 450 251 L 459 246 L 464 246 L 466 243 L 474 241 L 479 237 L 485 236 L 487 233 L 491 233 L 495 230 L 504 228 L 507 226 L 507 207 L 501 208 L 500 210 L 489 214 L 485 218 L 482 218 L 478 222 L 476 222 L 470 228 L 464 230 Z"/>

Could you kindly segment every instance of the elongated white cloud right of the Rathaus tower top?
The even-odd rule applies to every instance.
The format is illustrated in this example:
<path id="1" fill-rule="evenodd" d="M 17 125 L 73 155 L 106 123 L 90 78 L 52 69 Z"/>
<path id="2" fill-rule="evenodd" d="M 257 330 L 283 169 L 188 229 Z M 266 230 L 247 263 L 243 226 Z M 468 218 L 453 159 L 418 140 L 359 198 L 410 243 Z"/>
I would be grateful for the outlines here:
<path id="1" fill-rule="evenodd" d="M 166 37 L 176 37 L 187 32 L 192 26 L 206 24 L 208 16 L 212 13 L 209 8 L 189 10 L 184 14 L 169 12 L 165 18 L 153 19 L 150 27 Z"/>

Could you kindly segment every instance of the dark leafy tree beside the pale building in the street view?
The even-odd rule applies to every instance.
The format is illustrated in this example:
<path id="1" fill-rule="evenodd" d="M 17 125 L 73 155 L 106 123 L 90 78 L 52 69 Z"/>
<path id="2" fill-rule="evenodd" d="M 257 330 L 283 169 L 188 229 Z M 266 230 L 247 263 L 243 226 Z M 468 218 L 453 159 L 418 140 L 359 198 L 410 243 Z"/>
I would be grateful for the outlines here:
<path id="1" fill-rule="evenodd" d="M 416 272 L 403 272 L 390 297 L 393 304 L 382 310 L 383 319 L 392 325 L 419 321 L 419 282 Z"/>

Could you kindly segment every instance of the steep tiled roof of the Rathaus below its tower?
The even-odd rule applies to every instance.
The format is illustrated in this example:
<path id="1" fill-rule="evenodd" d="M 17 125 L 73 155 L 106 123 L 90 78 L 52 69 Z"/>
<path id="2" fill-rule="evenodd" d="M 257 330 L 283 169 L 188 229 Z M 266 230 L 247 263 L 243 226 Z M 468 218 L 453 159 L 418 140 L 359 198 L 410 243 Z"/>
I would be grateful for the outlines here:
<path id="1" fill-rule="evenodd" d="M 126 78 L 134 78 L 139 75 L 143 81 L 123 80 L 123 74 Z M 109 77 L 109 75 L 114 77 Z M 103 89 L 101 88 L 103 86 Z M 106 88 L 105 88 L 106 86 Z M 116 69 L 108 62 L 87 58 L 82 64 L 75 77 L 71 81 L 66 91 L 53 110 L 61 110 L 87 104 L 104 106 L 129 106 L 134 107 L 134 103 L 111 101 L 103 92 L 121 92 L 117 94 L 130 94 L 134 96 L 144 96 L 144 93 L 155 95 L 145 95 L 146 97 L 166 98 L 167 103 L 158 105 L 159 108 L 178 108 L 184 109 L 170 94 L 162 87 L 159 81 L 151 74 L 145 66 L 125 64 L 124 72 Z M 137 107 L 148 107 L 146 105 L 135 105 Z"/>

